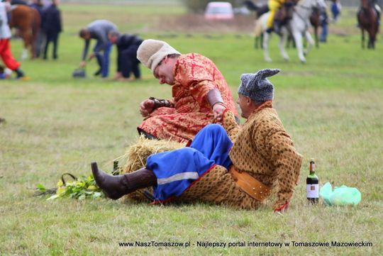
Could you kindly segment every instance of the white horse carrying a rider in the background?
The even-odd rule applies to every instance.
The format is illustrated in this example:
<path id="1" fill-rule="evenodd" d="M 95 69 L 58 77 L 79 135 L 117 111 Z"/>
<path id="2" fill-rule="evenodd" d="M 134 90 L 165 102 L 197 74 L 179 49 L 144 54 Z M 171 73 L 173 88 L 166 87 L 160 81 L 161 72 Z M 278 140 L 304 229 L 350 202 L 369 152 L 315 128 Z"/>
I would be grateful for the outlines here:
<path id="1" fill-rule="evenodd" d="M 294 13 L 292 19 L 287 22 L 287 25 L 281 28 L 281 34 L 279 35 L 279 50 L 284 60 L 289 61 L 289 55 L 287 55 L 287 52 L 284 49 L 284 45 L 287 40 L 287 36 L 291 34 L 295 41 L 296 50 L 298 50 L 299 60 L 301 60 L 302 63 L 306 62 L 306 58 L 304 57 L 304 55 L 309 53 L 314 44 L 314 40 L 309 32 L 309 19 L 313 8 L 316 6 L 326 8 L 325 0 L 301 0 L 296 6 L 294 6 Z M 258 35 L 260 33 L 263 33 L 263 56 L 265 57 L 265 61 L 267 62 L 272 61 L 269 55 L 270 33 L 266 32 L 267 18 L 269 17 L 269 15 L 270 13 L 265 13 L 262 16 L 260 16 L 255 27 L 256 35 L 257 33 Z M 305 51 L 303 50 L 302 35 L 306 37 L 308 43 Z"/>

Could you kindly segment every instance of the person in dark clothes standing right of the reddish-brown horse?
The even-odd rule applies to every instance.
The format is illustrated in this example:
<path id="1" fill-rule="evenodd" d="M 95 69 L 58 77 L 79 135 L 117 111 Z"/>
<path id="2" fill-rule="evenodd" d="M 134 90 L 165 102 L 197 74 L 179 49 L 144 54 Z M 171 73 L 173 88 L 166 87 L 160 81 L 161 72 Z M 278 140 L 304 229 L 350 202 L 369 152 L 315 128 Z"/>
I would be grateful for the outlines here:
<path id="1" fill-rule="evenodd" d="M 62 31 L 61 14 L 57 8 L 60 0 L 52 0 L 52 4 L 44 10 L 43 13 L 43 30 L 45 31 L 47 40 L 44 48 L 44 60 L 47 59 L 48 45 L 53 43 L 53 59 L 57 59 L 58 36 Z"/>

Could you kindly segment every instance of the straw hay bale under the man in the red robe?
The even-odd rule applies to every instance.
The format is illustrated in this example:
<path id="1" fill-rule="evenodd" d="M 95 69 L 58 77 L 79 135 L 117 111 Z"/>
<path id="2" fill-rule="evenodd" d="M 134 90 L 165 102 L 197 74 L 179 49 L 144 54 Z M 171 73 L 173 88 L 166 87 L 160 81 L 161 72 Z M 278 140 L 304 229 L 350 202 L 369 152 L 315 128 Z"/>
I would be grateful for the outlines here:
<path id="1" fill-rule="evenodd" d="M 185 143 L 178 143 L 171 140 L 148 140 L 141 136 L 138 140 L 131 145 L 125 155 L 121 157 L 126 160 L 126 164 L 122 167 L 122 173 L 134 172 L 146 166 L 146 159 L 155 153 L 177 150 L 183 148 Z M 140 189 L 131 194 L 123 196 L 123 202 L 129 201 L 148 201 L 147 197 L 143 194 L 143 191 L 147 190 L 152 194 L 152 189 Z"/>

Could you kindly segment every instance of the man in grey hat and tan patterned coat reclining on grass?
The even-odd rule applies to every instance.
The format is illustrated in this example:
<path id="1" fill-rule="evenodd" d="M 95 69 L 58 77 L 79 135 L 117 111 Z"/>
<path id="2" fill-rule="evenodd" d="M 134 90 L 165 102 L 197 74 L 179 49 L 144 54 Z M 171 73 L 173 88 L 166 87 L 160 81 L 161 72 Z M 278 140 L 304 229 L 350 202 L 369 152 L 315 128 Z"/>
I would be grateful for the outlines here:
<path id="1" fill-rule="evenodd" d="M 206 126 L 189 147 L 150 155 L 146 168 L 136 172 L 111 176 L 92 163 L 96 183 L 111 199 L 152 186 L 156 202 L 199 200 L 245 209 L 259 208 L 274 190 L 273 209 L 283 212 L 302 157 L 272 108 L 274 87 L 266 77 L 278 72 L 241 76 L 237 102 L 247 118 L 242 128 L 225 111 L 223 127 Z"/>

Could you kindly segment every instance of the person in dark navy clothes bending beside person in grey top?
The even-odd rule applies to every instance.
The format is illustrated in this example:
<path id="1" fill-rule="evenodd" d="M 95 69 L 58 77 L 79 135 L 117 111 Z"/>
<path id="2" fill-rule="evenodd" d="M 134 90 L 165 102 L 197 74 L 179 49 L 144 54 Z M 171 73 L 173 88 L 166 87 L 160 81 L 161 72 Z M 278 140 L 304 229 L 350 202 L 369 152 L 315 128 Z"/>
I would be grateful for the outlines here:
<path id="1" fill-rule="evenodd" d="M 115 79 L 129 79 L 133 72 L 135 79 L 141 78 L 140 61 L 137 50 L 143 40 L 137 35 L 123 34 L 112 31 L 108 35 L 109 41 L 117 46 L 117 72 Z"/>

